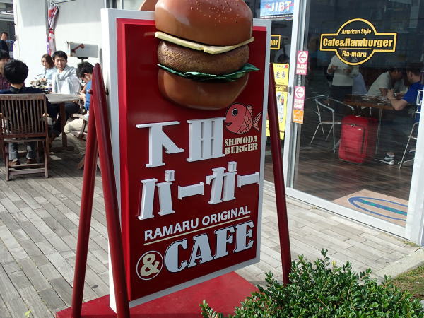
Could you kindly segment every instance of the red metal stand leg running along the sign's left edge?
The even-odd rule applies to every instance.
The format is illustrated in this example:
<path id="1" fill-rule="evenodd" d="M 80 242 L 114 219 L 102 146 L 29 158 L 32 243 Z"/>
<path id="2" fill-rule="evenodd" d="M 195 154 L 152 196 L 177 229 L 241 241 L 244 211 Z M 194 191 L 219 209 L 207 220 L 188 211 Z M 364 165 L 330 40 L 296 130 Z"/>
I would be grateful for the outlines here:
<path id="1" fill-rule="evenodd" d="M 129 317 L 128 294 L 125 281 L 124 254 L 122 252 L 122 236 L 119 220 L 117 187 L 114 179 L 112 146 L 107 112 L 105 85 L 103 83 L 100 64 L 95 64 L 93 70 L 93 110 L 95 112 L 95 129 L 98 136 L 100 169 L 102 170 L 103 194 L 107 234 L 109 237 L 110 258 L 112 262 L 115 300 L 118 317 Z"/>

